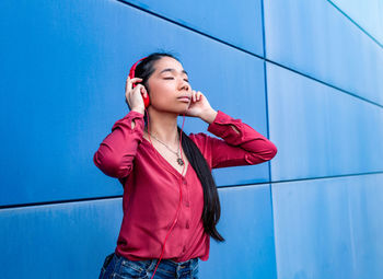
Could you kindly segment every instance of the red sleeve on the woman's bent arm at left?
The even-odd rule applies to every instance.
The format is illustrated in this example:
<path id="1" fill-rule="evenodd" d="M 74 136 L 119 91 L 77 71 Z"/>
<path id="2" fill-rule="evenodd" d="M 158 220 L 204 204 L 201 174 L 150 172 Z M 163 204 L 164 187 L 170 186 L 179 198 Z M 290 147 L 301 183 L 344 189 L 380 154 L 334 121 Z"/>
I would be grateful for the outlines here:
<path id="1" fill-rule="evenodd" d="M 136 126 L 131 128 L 131 121 Z M 94 164 L 106 175 L 123 178 L 132 170 L 137 147 L 142 141 L 143 114 L 130 111 L 117 120 L 112 132 L 101 142 L 93 155 Z"/>

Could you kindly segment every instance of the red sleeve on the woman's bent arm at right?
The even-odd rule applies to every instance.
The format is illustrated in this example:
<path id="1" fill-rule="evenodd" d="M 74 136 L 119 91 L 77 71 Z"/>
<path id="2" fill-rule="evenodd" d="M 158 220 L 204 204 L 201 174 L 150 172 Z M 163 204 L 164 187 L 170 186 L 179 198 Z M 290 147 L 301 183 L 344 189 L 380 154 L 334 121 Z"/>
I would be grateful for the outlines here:
<path id="1" fill-rule="evenodd" d="M 199 143 L 211 168 L 259 164 L 277 154 L 277 147 L 270 140 L 221 111 L 208 126 L 208 131 L 222 139 L 202 132 L 190 136 Z"/>

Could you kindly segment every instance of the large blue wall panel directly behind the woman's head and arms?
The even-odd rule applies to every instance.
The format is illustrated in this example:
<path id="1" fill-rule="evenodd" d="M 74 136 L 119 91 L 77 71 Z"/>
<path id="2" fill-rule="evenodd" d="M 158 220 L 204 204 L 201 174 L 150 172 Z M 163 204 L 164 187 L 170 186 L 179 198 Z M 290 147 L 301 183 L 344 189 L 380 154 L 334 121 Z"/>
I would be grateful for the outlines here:
<path id="1" fill-rule="evenodd" d="M 192 86 L 212 107 L 267 135 L 264 65 L 254 56 L 118 1 L 5 1 L 0 8 L 7 19 L 1 28 L 9 35 L 0 66 L 7 81 L 0 85 L 5 92 L 0 121 L 8 135 L 2 206 L 123 194 L 92 158 L 128 113 L 124 86 L 130 66 L 152 50 L 182 54 Z M 186 119 L 185 131 L 199 130 L 207 131 L 204 121 Z M 220 185 L 267 182 L 268 163 L 214 175 Z"/>

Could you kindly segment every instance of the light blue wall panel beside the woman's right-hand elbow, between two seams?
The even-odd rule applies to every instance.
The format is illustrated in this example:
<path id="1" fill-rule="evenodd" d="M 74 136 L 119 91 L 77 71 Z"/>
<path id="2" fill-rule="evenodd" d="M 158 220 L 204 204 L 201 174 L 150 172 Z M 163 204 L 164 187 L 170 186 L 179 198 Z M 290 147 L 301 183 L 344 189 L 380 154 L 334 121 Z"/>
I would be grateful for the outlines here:
<path id="1" fill-rule="evenodd" d="M 383 109 L 267 63 L 271 181 L 383 171 Z"/>

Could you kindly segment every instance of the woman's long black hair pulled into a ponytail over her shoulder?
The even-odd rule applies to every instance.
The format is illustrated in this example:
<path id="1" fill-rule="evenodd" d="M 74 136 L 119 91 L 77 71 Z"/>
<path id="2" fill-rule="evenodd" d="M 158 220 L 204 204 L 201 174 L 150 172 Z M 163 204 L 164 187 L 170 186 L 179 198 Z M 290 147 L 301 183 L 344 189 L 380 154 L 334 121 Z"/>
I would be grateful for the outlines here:
<path id="1" fill-rule="evenodd" d="M 146 59 L 141 60 L 136 67 L 135 77 L 142 79 L 140 83 L 147 89 L 149 97 L 150 88 L 148 80 L 150 75 L 155 71 L 155 62 L 162 57 L 171 57 L 179 61 L 178 58 L 176 58 L 170 53 L 152 53 Z M 144 112 L 144 124 L 147 127 L 147 111 Z M 179 126 L 177 126 L 177 130 L 178 132 L 181 132 Z M 182 147 L 189 163 L 196 171 L 197 176 L 204 188 L 202 221 L 205 232 L 207 232 L 217 242 L 224 242 L 225 240 L 216 229 L 216 225 L 221 216 L 221 205 L 218 196 L 217 185 L 211 174 L 210 167 L 196 143 L 184 131 L 182 131 Z"/>

